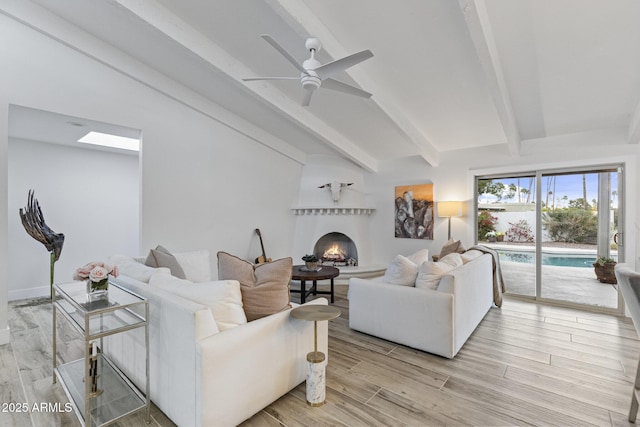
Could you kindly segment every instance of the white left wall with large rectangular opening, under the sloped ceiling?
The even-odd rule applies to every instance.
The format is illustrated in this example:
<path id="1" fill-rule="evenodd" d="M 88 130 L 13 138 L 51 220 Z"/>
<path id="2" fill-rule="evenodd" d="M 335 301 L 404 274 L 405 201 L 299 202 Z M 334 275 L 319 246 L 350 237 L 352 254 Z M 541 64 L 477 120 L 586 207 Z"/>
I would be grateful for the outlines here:
<path id="1" fill-rule="evenodd" d="M 91 40 L 86 36 L 79 43 Z M 108 45 L 93 44 L 97 57 L 104 51 L 132 72 L 147 70 Z M 10 104 L 142 131 L 141 254 L 157 244 L 174 251 L 209 249 L 216 276 L 216 251 L 258 256 L 254 229 L 261 228 L 273 236 L 272 258 L 291 255 L 294 219 L 289 209 L 297 199 L 302 166 L 207 114 L 219 111 L 219 106 L 192 94 L 191 99 L 199 102 L 196 111 L 4 15 L 0 15 L 0 57 L 0 344 L 8 338 L 5 186 Z M 177 86 L 181 93 L 187 91 Z M 56 197 L 39 196 L 43 204 L 49 203 L 45 196 Z M 51 224 L 59 224 L 53 212 L 45 215 Z M 73 264 L 78 261 L 84 257 Z"/>

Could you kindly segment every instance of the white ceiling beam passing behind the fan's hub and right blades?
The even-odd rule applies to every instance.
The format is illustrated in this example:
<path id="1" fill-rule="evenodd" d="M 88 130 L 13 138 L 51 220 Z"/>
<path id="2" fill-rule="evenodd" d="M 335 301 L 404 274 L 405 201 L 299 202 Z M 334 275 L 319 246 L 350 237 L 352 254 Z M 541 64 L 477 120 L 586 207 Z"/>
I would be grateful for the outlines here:
<path id="1" fill-rule="evenodd" d="M 347 51 L 333 36 L 331 31 L 316 17 L 316 15 L 300 0 L 265 0 L 265 2 L 282 17 L 301 38 L 309 35 L 322 41 L 322 49 L 334 59 L 342 58 L 353 52 Z M 375 55 L 375 52 L 373 52 Z M 375 60 L 372 59 L 372 61 Z M 435 146 L 420 132 L 403 111 L 397 107 L 397 103 L 388 95 L 384 88 L 377 85 L 363 71 L 363 67 L 353 67 L 345 73 L 367 92 L 373 93 L 371 100 L 407 135 L 416 146 L 419 155 L 431 166 L 438 166 L 440 156 Z"/>

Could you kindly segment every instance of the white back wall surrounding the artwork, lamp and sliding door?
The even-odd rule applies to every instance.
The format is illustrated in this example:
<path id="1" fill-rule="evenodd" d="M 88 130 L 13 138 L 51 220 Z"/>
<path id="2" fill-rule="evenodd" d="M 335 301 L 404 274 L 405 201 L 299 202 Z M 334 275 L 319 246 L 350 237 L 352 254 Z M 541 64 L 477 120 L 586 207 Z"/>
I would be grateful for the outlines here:
<path id="1" fill-rule="evenodd" d="M 546 151 L 511 157 L 503 147 L 489 146 L 476 150 L 458 150 L 442 153 L 438 167 L 425 165 L 417 157 L 408 157 L 386 162 L 376 175 L 367 174 L 367 190 L 374 195 L 376 214 L 371 223 L 371 236 L 377 262 L 388 264 L 397 254 L 411 254 L 420 248 L 428 248 L 430 254 L 438 254 L 447 239 L 447 219 L 435 218 L 434 240 L 396 239 L 393 228 L 393 194 L 397 185 L 433 183 L 434 199 L 461 200 L 467 207 L 466 216 L 453 218 L 451 235 L 461 239 L 466 246 L 474 243 L 473 235 L 473 185 L 474 176 L 490 173 L 509 173 L 576 167 L 586 165 L 626 163 L 626 261 L 639 262 L 640 243 L 638 224 L 640 223 L 639 179 L 637 164 L 639 149 L 637 145 L 607 146 L 606 153 L 597 147 L 581 147 L 580 140 L 575 141 L 576 148 Z M 607 141 L 602 141 L 603 145 Z M 529 152 L 532 151 L 527 147 Z M 437 213 L 437 210 L 436 210 Z"/>

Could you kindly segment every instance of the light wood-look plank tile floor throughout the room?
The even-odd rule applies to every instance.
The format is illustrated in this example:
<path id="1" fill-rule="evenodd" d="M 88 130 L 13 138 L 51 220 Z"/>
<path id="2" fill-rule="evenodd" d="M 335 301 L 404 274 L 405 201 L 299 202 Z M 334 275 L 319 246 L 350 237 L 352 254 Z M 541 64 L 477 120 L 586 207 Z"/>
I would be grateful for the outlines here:
<path id="1" fill-rule="evenodd" d="M 640 341 L 629 319 L 508 298 L 449 360 L 349 329 L 346 290 L 329 323 L 327 403 L 309 407 L 302 383 L 243 426 L 630 425 Z M 51 305 L 12 302 L 9 323 L 2 402 L 67 402 L 51 382 Z M 65 323 L 59 357 L 72 360 L 82 347 Z M 73 413 L 0 412 L 0 425 L 80 424 Z M 151 425 L 174 424 L 154 406 Z"/>

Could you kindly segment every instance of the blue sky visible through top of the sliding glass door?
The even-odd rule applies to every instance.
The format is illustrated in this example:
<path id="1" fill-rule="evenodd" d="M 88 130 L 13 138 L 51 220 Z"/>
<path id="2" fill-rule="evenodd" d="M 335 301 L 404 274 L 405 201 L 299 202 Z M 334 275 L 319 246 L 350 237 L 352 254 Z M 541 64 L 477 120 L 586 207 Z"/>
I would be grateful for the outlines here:
<path id="1" fill-rule="evenodd" d="M 545 192 L 547 191 L 547 181 L 552 178 L 551 176 L 543 176 L 542 177 L 542 201 L 546 201 Z M 572 174 L 572 175 L 555 175 L 555 193 L 556 193 L 556 206 L 557 207 L 566 207 L 568 200 L 575 200 L 578 198 L 582 198 L 582 174 Z M 589 203 L 593 199 L 598 199 L 598 174 L 597 173 L 589 173 L 586 174 L 587 181 L 587 200 Z M 532 185 L 532 201 L 535 201 L 535 177 L 533 178 Z M 502 182 L 505 186 L 509 186 L 510 184 L 518 185 L 517 178 L 500 178 L 494 179 L 494 182 Z M 525 190 L 529 188 L 529 178 L 520 178 L 520 187 Z M 611 174 L 611 190 L 616 191 L 618 188 L 618 174 Z M 551 185 L 550 191 L 553 191 L 553 183 Z M 567 200 L 563 201 L 562 197 L 567 196 Z M 526 199 L 526 194 L 522 195 L 522 201 L 524 202 Z M 495 197 L 492 195 L 484 194 L 478 197 L 480 203 L 491 203 L 495 201 Z M 511 202 L 517 203 L 517 196 L 513 199 L 503 199 L 502 202 Z M 552 195 L 549 196 L 549 204 L 552 203 Z M 617 198 L 613 199 L 614 206 L 617 205 Z"/>

